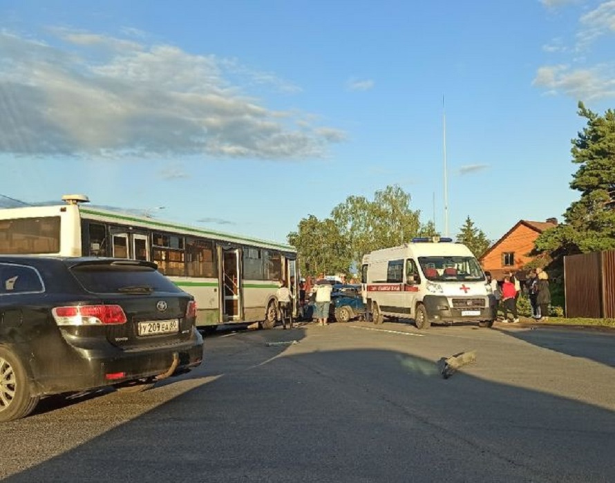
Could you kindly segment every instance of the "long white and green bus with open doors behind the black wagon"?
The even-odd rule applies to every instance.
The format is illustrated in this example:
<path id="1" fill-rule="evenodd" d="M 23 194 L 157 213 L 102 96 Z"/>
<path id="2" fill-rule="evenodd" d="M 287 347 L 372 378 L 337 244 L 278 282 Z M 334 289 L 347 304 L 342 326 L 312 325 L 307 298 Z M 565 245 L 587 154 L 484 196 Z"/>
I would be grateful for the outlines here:
<path id="1" fill-rule="evenodd" d="M 296 283 L 290 245 L 86 207 L 84 195 L 64 205 L 0 209 L 0 254 L 111 256 L 152 261 L 191 293 L 197 325 L 276 323 L 275 293 Z M 291 287 L 296 293 L 296 286 Z"/>

